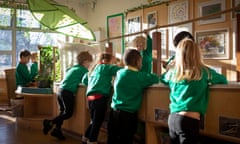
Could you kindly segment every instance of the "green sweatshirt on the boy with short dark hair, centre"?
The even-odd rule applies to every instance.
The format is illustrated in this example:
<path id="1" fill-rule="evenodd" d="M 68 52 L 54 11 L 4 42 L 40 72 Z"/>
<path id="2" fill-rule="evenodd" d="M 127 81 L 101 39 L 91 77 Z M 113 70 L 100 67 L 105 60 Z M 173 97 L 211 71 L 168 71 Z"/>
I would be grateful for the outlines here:
<path id="1" fill-rule="evenodd" d="M 142 103 L 143 91 L 159 82 L 156 74 L 133 71 L 127 68 L 117 72 L 111 107 L 130 113 L 137 112 Z"/>

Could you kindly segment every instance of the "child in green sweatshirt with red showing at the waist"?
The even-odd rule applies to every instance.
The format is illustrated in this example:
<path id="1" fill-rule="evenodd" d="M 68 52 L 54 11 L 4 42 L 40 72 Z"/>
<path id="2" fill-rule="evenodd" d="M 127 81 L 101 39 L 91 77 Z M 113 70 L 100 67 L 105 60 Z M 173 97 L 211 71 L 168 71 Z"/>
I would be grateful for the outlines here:
<path id="1" fill-rule="evenodd" d="M 85 74 L 83 84 L 87 85 L 88 107 L 91 122 L 82 137 L 87 144 L 97 143 L 99 130 L 107 112 L 108 100 L 112 95 L 112 79 L 121 68 L 113 65 L 113 56 L 101 53 L 97 63 Z"/>

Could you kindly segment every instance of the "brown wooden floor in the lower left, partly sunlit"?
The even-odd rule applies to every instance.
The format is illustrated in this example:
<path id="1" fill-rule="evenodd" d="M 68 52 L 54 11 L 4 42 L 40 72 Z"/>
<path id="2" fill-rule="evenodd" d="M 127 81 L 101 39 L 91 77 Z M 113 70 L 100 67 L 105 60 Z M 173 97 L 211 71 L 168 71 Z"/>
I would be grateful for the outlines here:
<path id="1" fill-rule="evenodd" d="M 69 135 L 65 135 L 65 141 L 59 141 L 41 130 L 19 128 L 15 121 L 9 112 L 0 109 L 0 144 L 81 144 L 79 138 Z"/>

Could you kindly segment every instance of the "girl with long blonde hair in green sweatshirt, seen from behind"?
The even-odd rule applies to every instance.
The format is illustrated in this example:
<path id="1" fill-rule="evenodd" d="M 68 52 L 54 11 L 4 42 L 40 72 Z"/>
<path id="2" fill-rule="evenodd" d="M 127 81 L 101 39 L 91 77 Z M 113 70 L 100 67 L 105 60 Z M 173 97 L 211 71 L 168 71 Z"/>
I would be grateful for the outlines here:
<path id="1" fill-rule="evenodd" d="M 194 41 L 185 38 L 176 47 L 174 66 L 160 80 L 170 88 L 171 144 L 197 144 L 200 115 L 206 113 L 208 105 L 209 84 L 226 84 L 225 76 L 207 67 Z"/>

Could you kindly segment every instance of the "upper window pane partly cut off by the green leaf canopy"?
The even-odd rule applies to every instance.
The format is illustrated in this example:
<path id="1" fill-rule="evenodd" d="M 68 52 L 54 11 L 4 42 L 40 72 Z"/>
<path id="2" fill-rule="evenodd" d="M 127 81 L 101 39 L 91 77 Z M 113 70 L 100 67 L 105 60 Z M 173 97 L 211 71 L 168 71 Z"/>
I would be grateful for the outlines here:
<path id="1" fill-rule="evenodd" d="M 40 28 L 40 23 L 29 10 L 17 9 L 17 27 Z"/>

